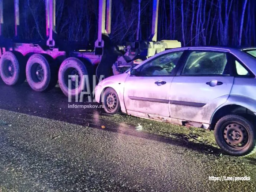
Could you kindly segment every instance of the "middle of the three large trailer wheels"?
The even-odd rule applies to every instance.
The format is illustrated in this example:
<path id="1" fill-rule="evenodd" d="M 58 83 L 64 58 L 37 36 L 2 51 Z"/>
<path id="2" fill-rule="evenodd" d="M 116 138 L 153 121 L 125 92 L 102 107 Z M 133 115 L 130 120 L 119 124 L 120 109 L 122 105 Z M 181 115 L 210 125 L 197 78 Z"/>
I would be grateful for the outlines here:
<path id="1" fill-rule="evenodd" d="M 34 91 L 52 89 L 57 83 L 56 66 L 50 56 L 33 54 L 26 65 L 27 82 Z"/>

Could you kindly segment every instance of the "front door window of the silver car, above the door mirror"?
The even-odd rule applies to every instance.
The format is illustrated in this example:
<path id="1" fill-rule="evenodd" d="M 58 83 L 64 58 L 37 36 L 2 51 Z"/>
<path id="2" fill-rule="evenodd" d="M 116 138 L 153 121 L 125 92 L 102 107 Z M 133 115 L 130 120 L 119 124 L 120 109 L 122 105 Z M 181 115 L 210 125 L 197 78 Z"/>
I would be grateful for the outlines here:
<path id="1" fill-rule="evenodd" d="M 173 69 L 178 64 L 178 61 L 183 51 L 173 52 L 161 55 L 142 65 L 139 69 L 140 76 L 167 76 L 171 75 Z"/>

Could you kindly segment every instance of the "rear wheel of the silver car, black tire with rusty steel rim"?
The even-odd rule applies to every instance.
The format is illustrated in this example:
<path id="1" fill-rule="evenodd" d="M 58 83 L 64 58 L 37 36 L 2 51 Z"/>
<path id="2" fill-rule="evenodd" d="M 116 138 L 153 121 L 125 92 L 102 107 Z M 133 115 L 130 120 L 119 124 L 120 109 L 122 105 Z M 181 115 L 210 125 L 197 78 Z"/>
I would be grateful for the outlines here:
<path id="1" fill-rule="evenodd" d="M 255 127 L 244 117 L 222 117 L 215 125 L 214 135 L 218 145 L 229 155 L 244 156 L 256 151 Z"/>

